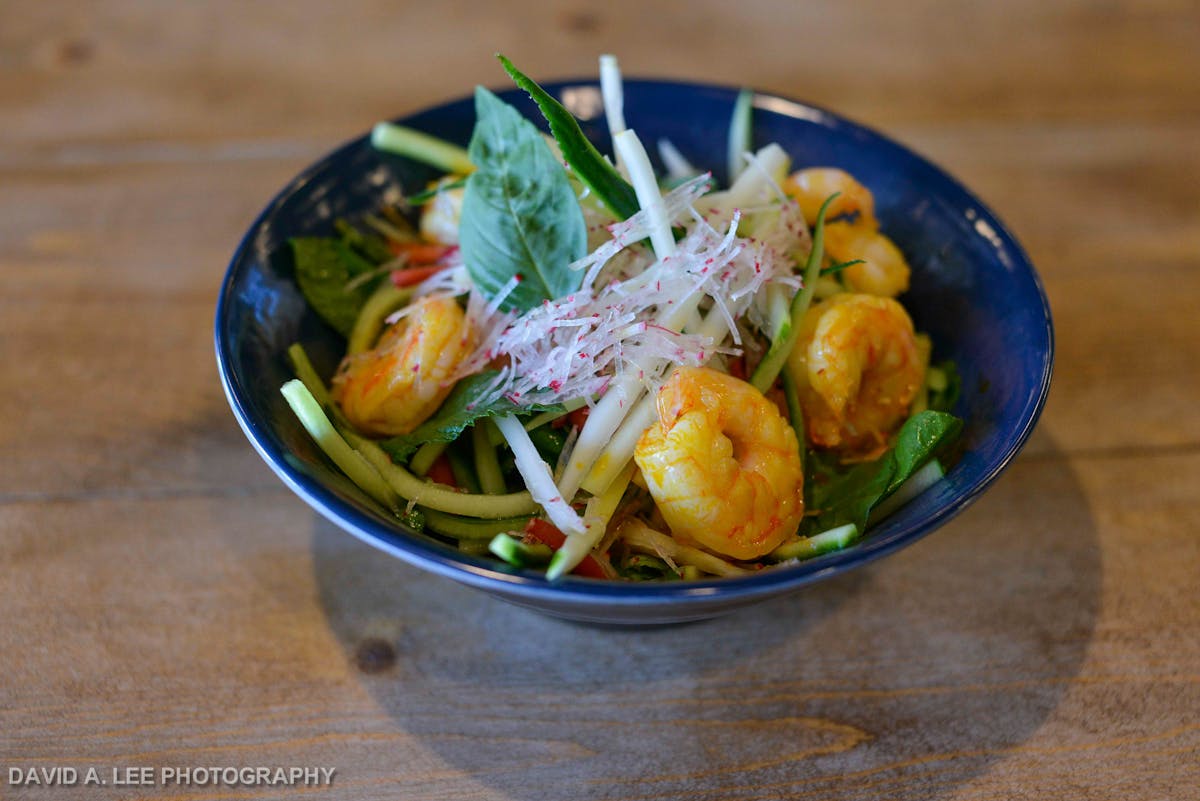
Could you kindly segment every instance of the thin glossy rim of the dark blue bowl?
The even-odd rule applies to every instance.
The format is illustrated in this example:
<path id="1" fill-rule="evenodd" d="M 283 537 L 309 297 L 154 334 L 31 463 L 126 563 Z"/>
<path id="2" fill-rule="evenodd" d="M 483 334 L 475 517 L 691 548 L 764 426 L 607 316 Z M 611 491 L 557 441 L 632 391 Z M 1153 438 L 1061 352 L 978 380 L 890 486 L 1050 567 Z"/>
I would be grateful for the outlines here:
<path id="1" fill-rule="evenodd" d="M 731 85 L 682 79 L 629 77 L 623 83 L 626 95 L 647 89 L 703 91 L 727 95 L 731 104 L 733 97 L 740 91 L 740 89 Z M 598 88 L 599 82 L 595 77 L 589 77 L 558 79 L 542 83 L 541 85 L 546 91 L 558 96 L 562 90 L 568 88 Z M 526 97 L 523 91 L 514 88 L 497 89 L 494 91 L 505 101 Z M 414 109 L 394 118 L 392 121 L 404 124 L 418 116 L 438 115 L 469 100 L 470 96 L 464 95 L 442 103 Z M 851 548 L 824 554 L 796 565 L 764 568 L 750 576 L 709 578 L 697 582 L 618 582 L 566 576 L 550 582 L 539 572 L 508 568 L 491 560 L 458 552 L 452 546 L 440 543 L 428 535 L 409 531 L 398 520 L 384 525 L 377 518 L 344 500 L 313 476 L 288 464 L 286 459 L 287 451 L 276 447 L 264 423 L 257 421 L 250 414 L 246 403 L 246 389 L 238 377 L 230 372 L 235 343 L 232 332 L 226 330 L 223 321 L 228 319 L 227 312 L 233 302 L 232 290 L 235 279 L 244 265 L 253 261 L 254 240 L 264 223 L 312 180 L 313 176 L 328 169 L 331 163 L 348 156 L 353 150 L 361 147 L 370 139 L 370 132 L 355 135 L 328 151 L 288 181 L 271 198 L 241 236 L 221 282 L 214 331 L 217 368 L 229 406 L 251 445 L 293 493 L 325 519 L 344 529 L 359 540 L 436 574 L 452 578 L 478 589 L 535 603 L 545 602 L 576 607 L 595 603 L 607 606 L 678 604 L 702 598 L 712 600 L 716 596 L 722 602 L 749 601 L 756 596 L 766 597 L 788 589 L 800 588 L 830 578 L 853 567 L 869 564 L 912 544 L 944 525 L 974 502 L 1012 464 L 1013 459 L 1028 441 L 1045 408 L 1054 373 L 1055 333 L 1050 302 L 1042 278 L 1020 242 L 996 213 L 958 179 L 913 149 L 870 126 L 805 101 L 775 92 L 754 90 L 752 103 L 756 108 L 774 114 L 814 122 L 824 128 L 848 133 L 857 138 L 865 138 L 875 146 L 883 145 L 905 158 L 913 159 L 930 168 L 940 181 L 970 200 L 977 218 L 990 225 L 992 231 L 995 231 L 995 236 L 1002 240 L 1004 249 L 1014 260 L 1014 265 L 1022 267 L 1021 272 L 1027 275 L 1036 290 L 1040 303 L 1040 315 L 1037 317 L 1044 320 L 1044 331 L 1039 333 L 1045 337 L 1046 342 L 1045 351 L 1040 354 L 1040 374 L 1034 381 L 1037 391 L 1025 401 L 1019 417 L 1019 427 L 1008 438 L 1007 446 L 1002 450 L 1000 457 L 990 464 L 986 471 L 976 477 L 974 481 L 955 490 L 950 500 L 937 507 L 932 514 L 901 526 L 889 534 L 889 536 L 864 537 Z M 403 544 L 397 542 L 397 538 L 402 538 Z"/>

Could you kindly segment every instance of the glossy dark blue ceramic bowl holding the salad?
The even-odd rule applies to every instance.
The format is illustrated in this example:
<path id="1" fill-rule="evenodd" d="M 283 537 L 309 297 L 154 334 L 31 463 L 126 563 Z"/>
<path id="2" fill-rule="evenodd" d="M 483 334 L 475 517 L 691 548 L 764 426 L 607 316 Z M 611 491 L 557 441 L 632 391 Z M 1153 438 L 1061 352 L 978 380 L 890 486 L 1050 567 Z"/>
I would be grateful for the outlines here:
<path id="1" fill-rule="evenodd" d="M 581 118 L 601 152 L 611 152 L 593 82 L 548 85 Z M 522 92 L 502 96 L 540 121 Z M 736 91 L 629 80 L 625 119 L 646 143 L 666 137 L 695 164 L 722 180 L 725 132 Z M 466 144 L 474 106 L 463 98 L 400 122 Z M 872 529 L 856 546 L 746 578 L 695 583 L 620 583 L 509 570 L 406 530 L 366 500 L 316 448 L 280 395 L 292 378 L 284 359 L 304 343 L 328 377 L 344 343 L 305 305 L 286 243 L 328 234 L 332 221 L 377 209 L 433 174 L 377 153 L 359 138 L 313 164 L 266 206 L 234 253 L 216 313 L 216 351 L 229 404 L 266 463 L 314 510 L 380 550 L 446 578 L 552 615 L 617 624 L 709 618 L 796 591 L 893 553 L 961 512 L 1025 444 L 1050 385 L 1054 332 L 1045 293 L 1028 258 L 978 198 L 946 173 L 886 137 L 823 109 L 755 96 L 755 146 L 778 141 L 800 165 L 841 167 L 869 186 L 883 230 L 908 255 L 912 290 L 904 297 L 935 359 L 962 374 L 956 414 L 966 420 L 964 452 L 946 480 Z M 652 147 L 653 150 L 653 147 Z"/>

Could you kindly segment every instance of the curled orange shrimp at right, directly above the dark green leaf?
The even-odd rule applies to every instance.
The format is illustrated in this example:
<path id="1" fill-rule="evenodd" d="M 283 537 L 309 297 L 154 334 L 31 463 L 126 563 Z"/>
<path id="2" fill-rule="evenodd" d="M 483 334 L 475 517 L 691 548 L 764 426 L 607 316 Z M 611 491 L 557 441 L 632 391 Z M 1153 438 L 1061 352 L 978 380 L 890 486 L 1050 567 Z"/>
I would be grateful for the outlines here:
<path id="1" fill-rule="evenodd" d="M 850 456 L 876 456 L 925 380 L 904 306 L 844 293 L 812 306 L 788 357 L 808 439 Z"/>

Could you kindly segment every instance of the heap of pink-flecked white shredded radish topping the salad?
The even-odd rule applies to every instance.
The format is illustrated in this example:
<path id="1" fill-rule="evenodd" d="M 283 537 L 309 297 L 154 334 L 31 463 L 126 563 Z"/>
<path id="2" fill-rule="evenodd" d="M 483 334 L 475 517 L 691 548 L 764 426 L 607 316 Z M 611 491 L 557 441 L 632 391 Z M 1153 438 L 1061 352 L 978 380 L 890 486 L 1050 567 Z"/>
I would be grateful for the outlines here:
<path id="1" fill-rule="evenodd" d="M 708 180 L 708 175 L 697 176 L 662 199 L 672 223 L 690 224 L 665 259 L 654 260 L 641 245 L 650 225 L 648 216 L 638 212 L 610 225 L 610 240 L 571 265 L 586 273 L 583 285 L 565 297 L 545 301 L 514 319 L 496 313 L 497 301 L 486 303 L 472 293 L 467 313 L 480 333 L 480 345 L 461 374 L 502 359 L 496 392 L 518 405 L 557 403 L 595 398 L 614 380 L 626 378 L 654 389 L 672 365 L 702 365 L 714 353 L 738 354 L 712 337 L 660 324 L 670 309 L 698 295 L 713 307 L 710 313 L 725 319 L 734 344 L 740 344 L 737 320 L 751 309 L 760 290 L 769 283 L 796 285 L 784 249 L 737 235 L 739 212 L 718 230 L 695 211 Z M 611 261 L 630 253 L 637 254 L 640 270 L 605 276 Z M 444 279 L 444 285 L 450 284 L 451 278 Z"/>

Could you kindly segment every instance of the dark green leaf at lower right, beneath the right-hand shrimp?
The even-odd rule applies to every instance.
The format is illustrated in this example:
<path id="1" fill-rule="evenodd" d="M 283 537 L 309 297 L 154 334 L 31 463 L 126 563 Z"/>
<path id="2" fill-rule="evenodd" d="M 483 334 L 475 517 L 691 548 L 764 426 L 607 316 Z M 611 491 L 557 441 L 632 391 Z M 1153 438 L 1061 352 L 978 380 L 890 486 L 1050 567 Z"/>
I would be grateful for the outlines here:
<path id="1" fill-rule="evenodd" d="M 895 492 L 960 430 L 962 421 L 942 411 L 922 411 L 910 417 L 900 428 L 895 446 L 877 460 L 856 465 L 814 487 L 809 500 L 821 513 L 810 518 L 811 531 L 824 531 L 846 523 L 865 531 L 871 508 Z"/>

